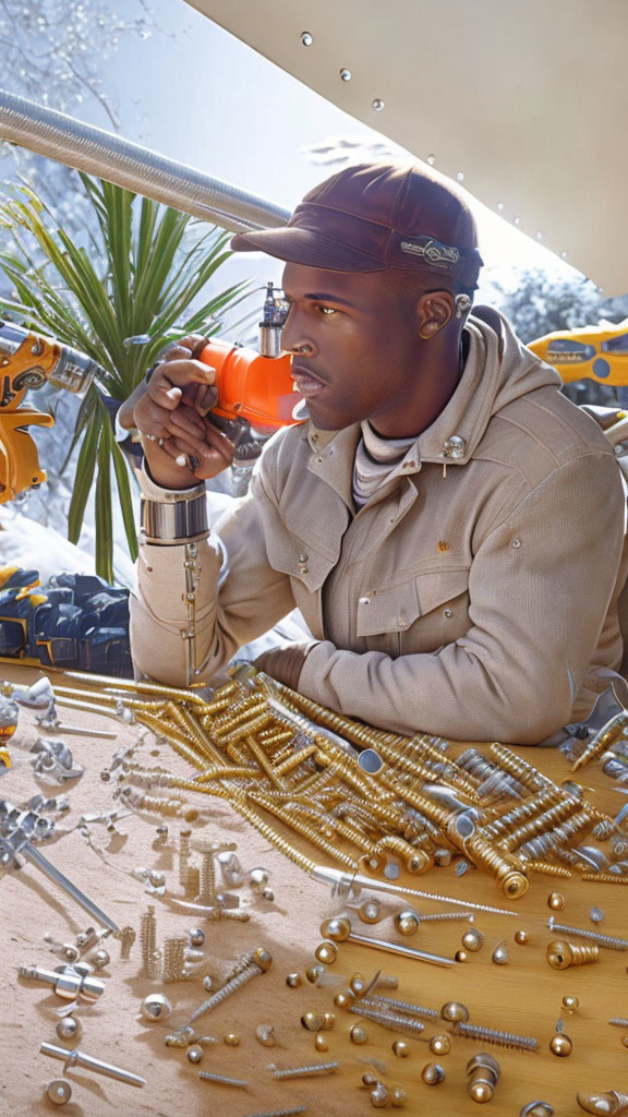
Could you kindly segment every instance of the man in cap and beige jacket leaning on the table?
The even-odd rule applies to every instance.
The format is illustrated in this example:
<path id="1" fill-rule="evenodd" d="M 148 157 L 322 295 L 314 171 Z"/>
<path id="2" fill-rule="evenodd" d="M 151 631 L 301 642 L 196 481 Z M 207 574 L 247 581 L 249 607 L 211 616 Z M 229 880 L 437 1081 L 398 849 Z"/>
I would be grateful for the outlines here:
<path id="1" fill-rule="evenodd" d="M 232 247 L 286 261 L 283 344 L 310 419 L 208 533 L 199 479 L 231 456 L 203 418 L 212 374 L 185 349 L 158 366 L 134 411 L 136 667 L 183 684 L 193 630 L 209 680 L 296 605 L 313 639 L 260 666 L 349 716 L 524 744 L 586 716 L 621 659 L 619 470 L 508 324 L 467 318 L 466 204 L 415 164 L 364 164 Z"/>

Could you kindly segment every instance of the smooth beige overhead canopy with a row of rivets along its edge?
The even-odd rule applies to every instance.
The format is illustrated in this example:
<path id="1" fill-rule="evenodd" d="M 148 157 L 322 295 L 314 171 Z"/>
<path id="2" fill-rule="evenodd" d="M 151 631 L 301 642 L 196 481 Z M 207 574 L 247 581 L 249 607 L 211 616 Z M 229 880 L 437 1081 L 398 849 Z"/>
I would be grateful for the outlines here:
<path id="1" fill-rule="evenodd" d="M 464 175 L 605 294 L 628 292 L 626 0 L 193 7 L 419 159 L 434 156 L 438 171 Z"/>

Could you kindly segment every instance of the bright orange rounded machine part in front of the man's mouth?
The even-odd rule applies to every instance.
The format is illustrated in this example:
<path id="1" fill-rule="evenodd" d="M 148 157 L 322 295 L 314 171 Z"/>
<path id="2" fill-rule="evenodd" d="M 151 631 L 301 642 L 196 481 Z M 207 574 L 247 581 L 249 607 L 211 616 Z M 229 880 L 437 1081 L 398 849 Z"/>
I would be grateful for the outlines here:
<path id="1" fill-rule="evenodd" d="M 291 427 L 296 404 L 303 399 L 294 390 L 292 359 L 260 356 L 255 350 L 211 341 L 199 360 L 216 369 L 218 404 L 213 410 L 227 419 L 247 419 L 251 427 Z"/>

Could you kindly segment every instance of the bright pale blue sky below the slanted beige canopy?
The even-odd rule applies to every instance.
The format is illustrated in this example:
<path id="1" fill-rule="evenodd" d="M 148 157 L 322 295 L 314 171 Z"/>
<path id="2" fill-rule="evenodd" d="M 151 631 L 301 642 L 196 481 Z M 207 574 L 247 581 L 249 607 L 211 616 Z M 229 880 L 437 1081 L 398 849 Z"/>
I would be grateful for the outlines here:
<path id="1" fill-rule="evenodd" d="M 155 34 L 145 40 L 123 37 L 104 75 L 125 139 L 288 209 L 337 169 L 326 165 L 321 152 L 330 142 L 349 140 L 356 155 L 370 154 L 381 143 L 402 152 L 184 0 L 150 0 L 150 7 Z M 80 107 L 84 120 L 107 126 L 96 106 Z M 470 201 L 486 269 L 540 267 L 574 274 L 554 254 Z M 268 265 L 266 271 L 273 268 Z M 276 269 L 268 277 L 275 275 Z"/>

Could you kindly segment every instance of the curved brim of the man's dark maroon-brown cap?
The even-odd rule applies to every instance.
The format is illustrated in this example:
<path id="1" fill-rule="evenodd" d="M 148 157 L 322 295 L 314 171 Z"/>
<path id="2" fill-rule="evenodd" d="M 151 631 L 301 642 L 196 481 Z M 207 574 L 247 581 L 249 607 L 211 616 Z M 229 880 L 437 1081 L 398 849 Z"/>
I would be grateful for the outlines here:
<path id="1" fill-rule="evenodd" d="M 304 264 L 326 271 L 383 271 L 383 260 L 321 237 L 308 229 L 285 227 L 238 232 L 231 239 L 235 252 L 266 252 L 289 264 Z"/>

